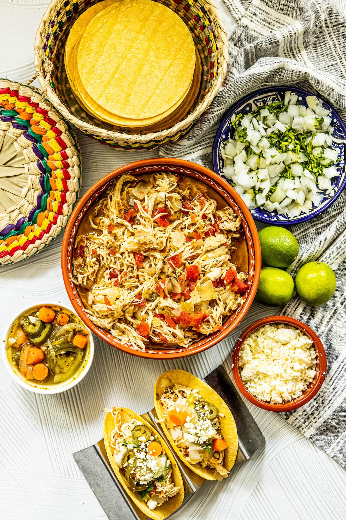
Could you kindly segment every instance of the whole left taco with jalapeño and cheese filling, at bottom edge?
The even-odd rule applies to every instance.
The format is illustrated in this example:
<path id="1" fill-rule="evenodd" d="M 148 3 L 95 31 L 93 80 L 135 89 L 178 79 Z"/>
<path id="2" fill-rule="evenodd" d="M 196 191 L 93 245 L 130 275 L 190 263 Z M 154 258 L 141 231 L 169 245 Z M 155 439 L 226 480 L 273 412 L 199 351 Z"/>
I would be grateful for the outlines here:
<path id="1" fill-rule="evenodd" d="M 162 437 L 128 408 L 107 411 L 103 430 L 108 459 L 137 507 L 163 520 L 183 502 L 182 475 Z"/>

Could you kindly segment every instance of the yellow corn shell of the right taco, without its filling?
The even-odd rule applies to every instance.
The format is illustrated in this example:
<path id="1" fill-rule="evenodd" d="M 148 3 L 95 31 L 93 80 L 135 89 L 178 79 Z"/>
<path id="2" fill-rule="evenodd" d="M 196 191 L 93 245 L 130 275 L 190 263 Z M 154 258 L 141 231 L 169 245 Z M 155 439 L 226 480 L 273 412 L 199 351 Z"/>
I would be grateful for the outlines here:
<path id="1" fill-rule="evenodd" d="M 164 417 L 163 406 L 160 404 L 160 398 L 164 393 L 165 388 L 164 386 L 162 386 L 162 380 L 169 380 L 172 382 L 173 385 L 178 384 L 196 389 L 203 400 L 214 404 L 218 409 L 219 413 L 225 415 L 225 417 L 219 417 L 219 419 L 221 423 L 221 434 L 227 443 L 223 466 L 227 471 L 229 471 L 231 467 L 233 467 L 234 462 L 236 462 L 237 458 L 238 434 L 237 426 L 234 422 L 233 415 L 231 414 L 231 411 L 226 405 L 225 401 L 215 392 L 213 388 L 211 388 L 209 385 L 198 379 L 195 375 L 190 374 L 189 372 L 185 372 L 185 370 L 169 370 L 168 372 L 165 372 L 164 374 L 160 375 L 154 387 L 155 409 L 157 417 L 160 421 Z M 211 467 L 202 467 L 199 463 L 190 464 L 185 459 L 183 454 L 178 450 L 164 422 L 161 422 L 161 426 L 164 431 L 164 434 L 170 441 L 172 448 L 174 449 L 178 457 L 184 462 L 184 464 L 186 464 L 190 468 L 190 470 L 192 470 L 194 473 L 197 473 L 197 475 L 200 475 L 206 480 L 217 480 L 215 476 L 215 469 Z"/>

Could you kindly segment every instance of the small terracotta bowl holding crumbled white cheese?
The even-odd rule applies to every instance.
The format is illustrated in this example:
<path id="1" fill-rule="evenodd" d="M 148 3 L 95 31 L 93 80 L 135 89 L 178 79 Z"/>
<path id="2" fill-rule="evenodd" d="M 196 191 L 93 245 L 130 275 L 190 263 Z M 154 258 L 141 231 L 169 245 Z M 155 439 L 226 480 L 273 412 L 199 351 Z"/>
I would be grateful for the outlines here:
<path id="1" fill-rule="evenodd" d="M 246 340 L 249 334 L 254 332 L 259 327 L 266 325 L 267 323 L 287 323 L 288 325 L 295 327 L 296 329 L 300 329 L 313 341 L 313 346 L 315 347 L 317 352 L 316 375 L 314 377 L 314 380 L 310 383 L 308 388 L 301 394 L 300 397 L 294 399 L 293 401 L 285 402 L 282 405 L 276 405 L 267 401 L 261 401 L 260 399 L 257 399 L 257 397 L 255 397 L 254 395 L 250 394 L 250 392 L 247 391 L 246 386 L 244 385 L 239 372 L 239 352 L 244 341 Z M 263 408 L 264 410 L 270 410 L 273 412 L 287 412 L 288 410 L 295 410 L 296 408 L 305 405 L 307 402 L 310 401 L 310 399 L 312 399 L 317 394 L 326 376 L 327 358 L 322 341 L 317 336 L 317 334 L 312 329 L 310 329 L 310 327 L 308 327 L 305 323 L 302 323 L 301 321 L 298 321 L 295 318 L 290 318 L 289 316 L 269 316 L 268 318 L 262 318 L 258 321 L 255 321 L 255 323 L 253 323 L 252 325 L 250 325 L 250 327 L 244 330 L 233 350 L 232 371 L 234 381 L 236 381 L 236 384 L 240 392 L 243 394 L 243 396 L 246 397 L 246 399 L 251 401 L 254 405 L 258 406 L 259 408 Z"/>

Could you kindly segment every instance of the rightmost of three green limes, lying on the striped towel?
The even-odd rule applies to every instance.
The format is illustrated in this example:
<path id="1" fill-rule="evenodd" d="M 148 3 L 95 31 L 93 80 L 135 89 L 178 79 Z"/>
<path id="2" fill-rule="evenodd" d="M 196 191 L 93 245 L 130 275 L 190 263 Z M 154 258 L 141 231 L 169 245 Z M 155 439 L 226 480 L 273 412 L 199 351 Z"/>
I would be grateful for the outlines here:
<path id="1" fill-rule="evenodd" d="M 335 272 L 323 262 L 303 265 L 296 276 L 296 289 L 300 299 L 307 305 L 324 305 L 336 288 Z"/>

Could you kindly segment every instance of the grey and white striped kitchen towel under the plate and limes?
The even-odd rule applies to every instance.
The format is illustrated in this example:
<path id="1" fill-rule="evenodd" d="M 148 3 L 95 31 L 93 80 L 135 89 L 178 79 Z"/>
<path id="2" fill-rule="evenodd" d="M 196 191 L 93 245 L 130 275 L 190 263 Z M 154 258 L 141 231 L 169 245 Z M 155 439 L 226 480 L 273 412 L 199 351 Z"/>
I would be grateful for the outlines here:
<path id="1" fill-rule="evenodd" d="M 343 0 L 339 0 L 340 5 Z M 325 0 L 225 0 L 236 21 L 229 38 L 230 65 L 210 109 L 181 140 L 160 150 L 212 168 L 213 139 L 223 115 L 259 87 L 294 85 L 328 99 L 346 121 L 346 19 Z M 295 298 L 283 314 L 309 324 L 327 352 L 327 377 L 309 404 L 286 414 L 316 445 L 346 469 L 346 197 L 292 231 L 304 263 L 320 259 L 336 272 L 337 290 L 322 307 Z"/>

